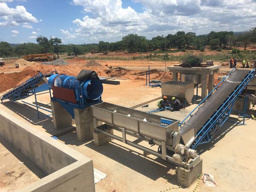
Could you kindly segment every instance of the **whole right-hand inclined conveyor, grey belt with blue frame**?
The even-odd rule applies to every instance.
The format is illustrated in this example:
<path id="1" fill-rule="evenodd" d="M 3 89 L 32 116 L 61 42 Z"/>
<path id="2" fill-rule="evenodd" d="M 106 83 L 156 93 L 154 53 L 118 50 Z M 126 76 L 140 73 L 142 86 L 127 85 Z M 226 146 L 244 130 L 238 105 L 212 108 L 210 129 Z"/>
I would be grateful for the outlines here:
<path id="1" fill-rule="evenodd" d="M 182 122 L 179 133 L 181 142 L 190 148 L 209 142 L 221 125 L 227 120 L 233 104 L 247 84 L 253 79 L 256 70 L 232 70 Z M 212 93 L 211 92 L 211 93 Z M 204 103 L 204 105 L 202 105 Z M 231 108 L 230 108 L 231 106 Z M 189 118 L 190 117 L 190 118 Z M 196 127 L 197 135 L 194 137 Z"/>

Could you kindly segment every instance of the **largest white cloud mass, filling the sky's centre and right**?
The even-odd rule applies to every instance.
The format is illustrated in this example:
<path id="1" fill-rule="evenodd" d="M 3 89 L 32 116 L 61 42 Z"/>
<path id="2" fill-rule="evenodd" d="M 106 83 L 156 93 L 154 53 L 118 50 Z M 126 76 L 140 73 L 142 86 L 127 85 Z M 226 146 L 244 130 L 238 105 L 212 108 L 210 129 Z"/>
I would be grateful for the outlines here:
<path id="1" fill-rule="evenodd" d="M 72 22 L 77 28 L 61 29 L 67 39 L 86 43 L 120 41 L 136 33 L 151 39 L 178 31 L 197 35 L 211 31 L 243 31 L 256 26 L 255 0 L 133 0 L 143 12 L 122 7 L 124 0 L 73 0 L 85 16 Z M 90 14 L 88 14 L 90 13 Z M 89 16 L 90 15 L 90 16 Z"/>

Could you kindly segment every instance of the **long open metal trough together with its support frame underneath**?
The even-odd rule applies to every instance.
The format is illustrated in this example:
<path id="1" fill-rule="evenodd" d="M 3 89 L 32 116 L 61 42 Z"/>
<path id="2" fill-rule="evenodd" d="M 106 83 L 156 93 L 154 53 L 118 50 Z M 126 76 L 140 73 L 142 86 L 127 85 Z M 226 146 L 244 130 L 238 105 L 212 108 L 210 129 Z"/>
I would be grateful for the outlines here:
<path id="1" fill-rule="evenodd" d="M 170 154 L 167 154 L 168 146 L 175 148 L 178 144 L 177 142 L 180 141 L 180 135 L 177 133 L 180 121 L 177 119 L 166 118 L 106 102 L 93 105 L 91 106 L 91 109 L 94 119 L 105 122 L 109 127 L 116 131 L 121 131 L 122 137 L 104 131 L 107 126 L 106 124 L 96 127 L 97 123 L 95 122 L 95 130 L 99 131 L 101 134 L 105 134 L 108 137 L 146 151 L 156 157 L 169 161 L 170 163 L 183 166 L 185 169 L 190 169 L 200 160 L 200 156 L 197 155 L 195 159 L 189 160 L 185 166 L 184 162 L 177 162 Z M 144 119 L 147 121 L 144 121 Z M 172 139 L 172 133 L 174 132 L 175 134 L 178 134 L 178 136 L 176 135 L 177 137 Z M 126 134 L 137 137 L 138 139 L 135 141 L 129 141 L 126 139 Z M 153 151 L 143 145 L 139 145 L 143 140 L 155 140 L 156 145 L 161 145 L 162 153 Z M 173 141 L 175 142 L 172 143 Z M 173 144 L 175 146 L 172 146 Z"/>

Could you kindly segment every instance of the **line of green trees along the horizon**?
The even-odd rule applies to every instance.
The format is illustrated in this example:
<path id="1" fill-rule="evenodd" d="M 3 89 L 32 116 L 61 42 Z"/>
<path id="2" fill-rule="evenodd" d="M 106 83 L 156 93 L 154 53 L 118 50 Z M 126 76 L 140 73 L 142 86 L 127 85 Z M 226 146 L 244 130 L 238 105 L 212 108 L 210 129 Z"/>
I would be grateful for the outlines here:
<path id="1" fill-rule="evenodd" d="M 38 44 L 23 43 L 16 47 L 11 47 L 7 42 L 0 42 L 0 57 L 11 55 L 21 56 L 29 54 L 41 54 L 54 52 L 57 55 L 68 53 L 69 55 L 82 55 L 90 52 L 92 49 L 107 54 L 108 52 L 124 51 L 128 52 L 150 52 L 155 50 L 165 49 L 198 49 L 204 51 L 205 46 L 210 49 L 227 49 L 230 45 L 236 46 L 238 42 L 243 42 L 244 49 L 249 42 L 256 43 L 256 27 L 253 27 L 247 32 L 234 34 L 233 31 L 210 32 L 208 35 L 196 35 L 193 32 L 185 33 L 179 31 L 176 34 L 167 36 L 157 36 L 148 40 L 145 36 L 137 34 L 129 34 L 122 38 L 122 41 L 104 42 L 99 41 L 99 44 L 61 44 L 61 39 L 44 36 L 38 36 L 36 39 Z"/>

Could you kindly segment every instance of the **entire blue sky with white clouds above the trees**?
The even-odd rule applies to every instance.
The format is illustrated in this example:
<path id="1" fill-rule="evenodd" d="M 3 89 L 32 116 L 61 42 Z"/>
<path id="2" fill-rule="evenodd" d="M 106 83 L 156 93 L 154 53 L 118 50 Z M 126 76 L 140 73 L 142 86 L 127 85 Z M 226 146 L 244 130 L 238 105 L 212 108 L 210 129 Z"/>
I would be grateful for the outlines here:
<path id="1" fill-rule="evenodd" d="M 0 41 L 122 41 L 129 34 L 241 32 L 256 27 L 256 0 L 0 0 Z"/>

